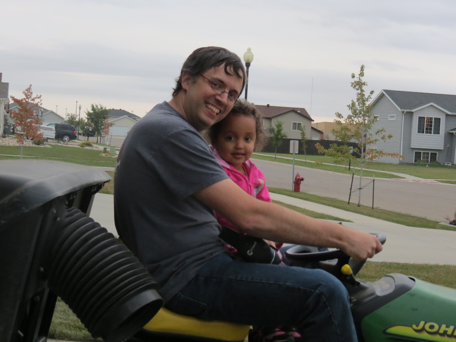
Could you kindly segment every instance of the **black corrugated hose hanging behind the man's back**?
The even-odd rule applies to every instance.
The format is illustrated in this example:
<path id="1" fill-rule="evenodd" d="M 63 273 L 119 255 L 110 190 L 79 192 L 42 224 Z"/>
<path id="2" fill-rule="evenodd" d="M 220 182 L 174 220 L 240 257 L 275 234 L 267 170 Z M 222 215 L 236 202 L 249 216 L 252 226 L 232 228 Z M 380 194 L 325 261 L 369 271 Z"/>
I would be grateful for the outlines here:
<path id="1" fill-rule="evenodd" d="M 59 220 L 48 286 L 93 337 L 121 342 L 160 309 L 157 284 L 139 260 L 76 208 Z"/>

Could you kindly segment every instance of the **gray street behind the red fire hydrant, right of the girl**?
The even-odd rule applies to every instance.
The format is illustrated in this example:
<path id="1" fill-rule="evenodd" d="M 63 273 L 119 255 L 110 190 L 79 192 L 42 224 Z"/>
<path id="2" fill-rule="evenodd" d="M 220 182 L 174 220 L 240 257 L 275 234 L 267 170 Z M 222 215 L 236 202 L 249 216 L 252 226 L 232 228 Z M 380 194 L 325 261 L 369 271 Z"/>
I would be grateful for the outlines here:
<path id="1" fill-rule="evenodd" d="M 292 166 L 273 161 L 252 161 L 263 171 L 268 187 L 291 189 Z M 301 184 L 301 191 L 316 195 L 348 200 L 352 176 L 337 172 L 330 172 L 308 167 L 295 166 L 305 180 Z M 372 178 L 363 177 L 363 184 Z M 359 177 L 355 176 L 353 189 L 359 184 Z M 358 193 L 352 195 L 352 202 L 358 202 Z M 372 185 L 362 191 L 361 204 L 372 205 Z M 453 218 L 456 210 L 456 186 L 445 183 L 427 183 L 385 178 L 375 179 L 374 206 L 395 212 L 446 221 L 446 217 Z"/>

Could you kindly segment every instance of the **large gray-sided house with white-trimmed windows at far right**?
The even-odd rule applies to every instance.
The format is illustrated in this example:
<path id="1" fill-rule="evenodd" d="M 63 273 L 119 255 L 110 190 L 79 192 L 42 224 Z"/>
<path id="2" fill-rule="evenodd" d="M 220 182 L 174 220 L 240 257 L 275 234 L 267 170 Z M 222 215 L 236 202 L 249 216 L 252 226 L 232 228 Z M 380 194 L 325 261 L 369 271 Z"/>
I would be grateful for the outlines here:
<path id="1" fill-rule="evenodd" d="M 381 157 L 386 163 L 456 162 L 456 95 L 382 90 L 372 101 L 378 121 L 393 138 L 372 147 L 404 158 Z"/>

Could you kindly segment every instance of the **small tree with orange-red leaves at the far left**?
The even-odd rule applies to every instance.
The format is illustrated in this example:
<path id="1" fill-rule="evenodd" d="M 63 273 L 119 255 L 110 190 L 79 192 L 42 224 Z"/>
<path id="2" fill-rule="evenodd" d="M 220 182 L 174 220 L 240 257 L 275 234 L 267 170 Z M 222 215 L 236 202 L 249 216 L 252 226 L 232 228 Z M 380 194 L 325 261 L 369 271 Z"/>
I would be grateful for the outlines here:
<path id="1" fill-rule="evenodd" d="M 22 92 L 23 98 L 15 98 L 11 96 L 11 100 L 19 106 L 16 111 L 10 111 L 11 117 L 14 120 L 14 128 L 19 128 L 19 132 L 16 132 L 16 139 L 18 143 L 21 143 L 21 158 L 22 158 L 22 147 L 24 146 L 24 137 L 31 139 L 43 139 L 43 134 L 40 133 L 40 124 L 42 119 L 34 115 L 34 111 L 38 110 L 41 106 L 41 95 L 33 96 L 31 85 Z"/>

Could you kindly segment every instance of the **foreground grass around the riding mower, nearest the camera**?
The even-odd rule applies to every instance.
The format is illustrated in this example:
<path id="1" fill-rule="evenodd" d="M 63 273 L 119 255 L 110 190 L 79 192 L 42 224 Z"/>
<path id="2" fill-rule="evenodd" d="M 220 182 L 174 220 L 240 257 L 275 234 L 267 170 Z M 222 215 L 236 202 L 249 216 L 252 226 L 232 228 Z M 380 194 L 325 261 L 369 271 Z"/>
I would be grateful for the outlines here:
<path id="1" fill-rule="evenodd" d="M 456 288 L 456 282 L 454 281 L 456 266 L 454 265 L 367 261 L 357 278 L 365 281 L 375 281 L 389 273 L 402 273 L 434 284 Z M 80 342 L 103 342 L 100 338 L 90 336 L 78 317 L 60 298 L 57 299 L 49 338 Z"/>

